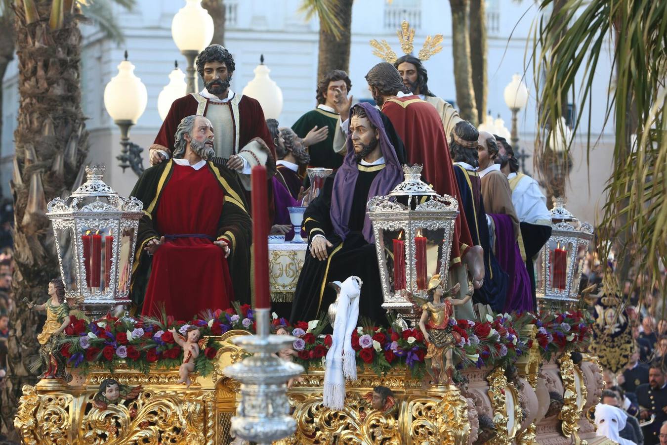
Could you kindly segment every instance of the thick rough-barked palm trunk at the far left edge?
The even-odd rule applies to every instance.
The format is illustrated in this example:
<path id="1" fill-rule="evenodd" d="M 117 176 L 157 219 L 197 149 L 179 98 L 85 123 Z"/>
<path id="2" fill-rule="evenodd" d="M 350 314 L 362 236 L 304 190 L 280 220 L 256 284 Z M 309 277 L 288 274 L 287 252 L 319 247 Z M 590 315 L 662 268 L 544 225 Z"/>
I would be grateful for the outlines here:
<path id="1" fill-rule="evenodd" d="M 77 21 L 66 15 L 61 29 L 51 30 L 51 1 L 35 3 L 39 19 L 25 23 L 23 2 L 17 2 L 15 23 L 19 113 L 14 132 L 17 171 L 11 189 L 15 197 L 16 304 L 9 314 L 13 328 L 2 390 L 3 431 L 10 434 L 21 388 L 37 380 L 27 368 L 39 349 L 38 313 L 21 301 L 45 302 L 49 280 L 60 276 L 45 203 L 71 190 L 87 155 L 88 138 L 81 112 L 81 33 Z"/>

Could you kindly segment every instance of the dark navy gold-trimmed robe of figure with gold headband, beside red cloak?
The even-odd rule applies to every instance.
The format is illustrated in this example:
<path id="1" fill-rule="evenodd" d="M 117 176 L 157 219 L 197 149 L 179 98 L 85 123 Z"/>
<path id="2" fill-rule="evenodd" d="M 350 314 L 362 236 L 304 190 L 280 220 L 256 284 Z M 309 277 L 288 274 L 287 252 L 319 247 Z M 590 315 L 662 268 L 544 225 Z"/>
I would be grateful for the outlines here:
<path id="1" fill-rule="evenodd" d="M 458 185 L 463 211 L 470 228 L 470 236 L 476 246 L 484 249 L 484 283 L 472 294 L 474 303 L 488 304 L 494 311 L 502 312 L 505 306 L 508 275 L 494 256 L 490 240 L 481 183 L 477 175 L 470 175 L 462 165 L 454 164 L 454 174 Z"/>

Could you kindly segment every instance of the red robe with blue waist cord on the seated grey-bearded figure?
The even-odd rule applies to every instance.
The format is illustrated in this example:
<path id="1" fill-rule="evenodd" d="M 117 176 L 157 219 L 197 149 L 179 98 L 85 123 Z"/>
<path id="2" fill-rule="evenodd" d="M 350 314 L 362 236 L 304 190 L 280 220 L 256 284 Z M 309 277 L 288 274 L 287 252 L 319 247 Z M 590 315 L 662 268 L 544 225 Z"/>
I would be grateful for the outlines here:
<path id="1" fill-rule="evenodd" d="M 206 166 L 173 165 L 153 223 L 167 240 L 153 255 L 144 315 L 159 315 L 164 305 L 166 314 L 191 320 L 202 310 L 231 306 L 234 291 L 223 249 L 206 238 L 168 239 L 201 234 L 215 240 L 224 201 L 223 189 Z"/>

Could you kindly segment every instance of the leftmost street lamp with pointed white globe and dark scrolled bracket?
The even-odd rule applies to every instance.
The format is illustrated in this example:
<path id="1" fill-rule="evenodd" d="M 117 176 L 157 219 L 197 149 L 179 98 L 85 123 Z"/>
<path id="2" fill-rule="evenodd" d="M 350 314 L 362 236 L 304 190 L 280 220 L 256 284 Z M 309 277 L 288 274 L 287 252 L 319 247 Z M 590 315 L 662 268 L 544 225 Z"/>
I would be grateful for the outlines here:
<path id="1" fill-rule="evenodd" d="M 141 151 L 143 148 L 129 141 L 129 127 L 137 123 L 139 117 L 146 109 L 148 93 L 141 79 L 134 75 L 134 65 L 125 60 L 118 65 L 118 74 L 111 78 L 104 88 L 104 106 L 113 122 L 121 129 L 121 154 L 116 157 L 121 163 L 120 167 L 125 171 L 127 167 L 141 175 L 143 172 L 143 160 Z"/>

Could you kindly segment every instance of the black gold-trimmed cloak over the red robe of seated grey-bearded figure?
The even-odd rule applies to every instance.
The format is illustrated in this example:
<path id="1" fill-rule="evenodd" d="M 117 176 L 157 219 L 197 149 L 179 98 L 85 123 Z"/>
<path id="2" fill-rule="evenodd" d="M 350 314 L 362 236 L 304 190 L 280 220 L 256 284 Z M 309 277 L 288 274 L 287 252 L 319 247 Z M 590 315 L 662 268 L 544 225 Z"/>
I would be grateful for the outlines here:
<path id="1" fill-rule="evenodd" d="M 161 192 L 171 177 L 173 160 L 163 161 L 146 169 L 132 190 L 131 196 L 143 203 L 143 216 L 139 219 L 137 246 L 132 267 L 130 295 L 133 303 L 141 308 L 146 293 L 146 286 L 151 276 L 151 257 L 143 248 L 149 240 L 159 238 L 153 224 Z M 203 168 L 208 168 L 220 183 L 225 193 L 223 215 L 218 223 L 217 240 L 225 240 L 231 253 L 227 258 L 235 299 L 241 304 L 250 304 L 250 245 L 252 243 L 251 219 L 243 197 L 243 189 L 237 179 L 237 173 L 227 167 L 211 161 Z M 197 191 L 193 190 L 193 193 Z M 187 267 L 187 265 L 183 265 Z M 187 296 L 183 296 L 187 298 Z"/>

